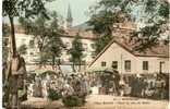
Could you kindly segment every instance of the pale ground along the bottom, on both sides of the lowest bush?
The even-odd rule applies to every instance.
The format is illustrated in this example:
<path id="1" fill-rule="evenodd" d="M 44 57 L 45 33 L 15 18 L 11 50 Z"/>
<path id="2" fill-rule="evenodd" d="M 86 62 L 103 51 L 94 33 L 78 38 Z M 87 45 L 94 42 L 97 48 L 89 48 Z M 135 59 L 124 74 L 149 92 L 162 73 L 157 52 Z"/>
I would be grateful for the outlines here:
<path id="1" fill-rule="evenodd" d="M 84 107 L 72 109 L 170 109 L 166 100 L 150 100 L 133 97 L 116 97 L 110 95 L 90 95 Z M 63 107 L 61 100 L 49 101 L 42 98 L 29 98 L 22 102 L 23 109 L 70 109 Z M 26 108 L 27 107 L 27 108 Z"/>

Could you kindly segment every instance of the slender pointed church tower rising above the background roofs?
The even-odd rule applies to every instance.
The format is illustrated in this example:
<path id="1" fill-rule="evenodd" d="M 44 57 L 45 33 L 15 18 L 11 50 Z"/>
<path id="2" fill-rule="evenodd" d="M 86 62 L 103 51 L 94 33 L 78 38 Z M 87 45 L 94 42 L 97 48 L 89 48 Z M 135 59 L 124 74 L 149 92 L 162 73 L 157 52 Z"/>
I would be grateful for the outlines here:
<path id="1" fill-rule="evenodd" d="M 66 17 L 66 28 L 72 27 L 72 23 L 73 23 L 73 17 L 72 17 L 72 12 L 71 12 L 71 7 L 69 4 L 69 7 L 68 7 L 68 17 Z"/>

